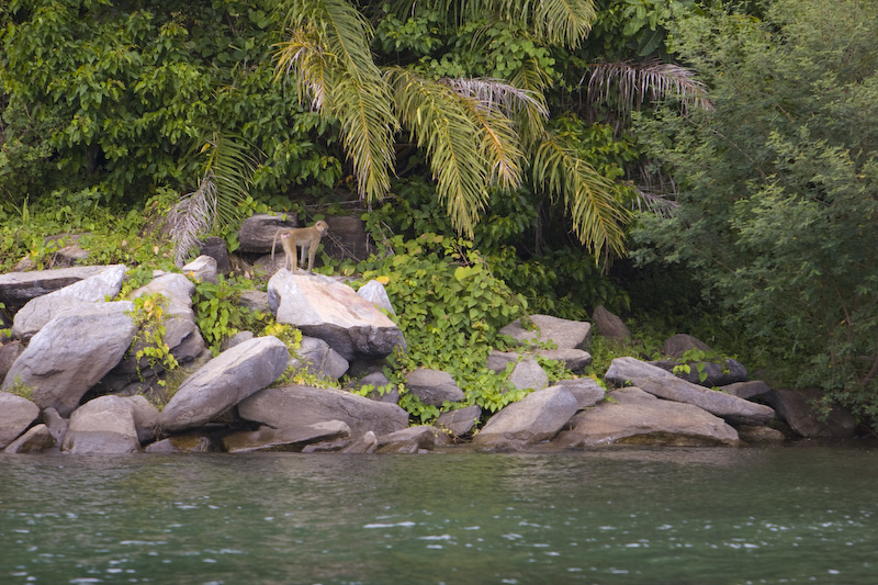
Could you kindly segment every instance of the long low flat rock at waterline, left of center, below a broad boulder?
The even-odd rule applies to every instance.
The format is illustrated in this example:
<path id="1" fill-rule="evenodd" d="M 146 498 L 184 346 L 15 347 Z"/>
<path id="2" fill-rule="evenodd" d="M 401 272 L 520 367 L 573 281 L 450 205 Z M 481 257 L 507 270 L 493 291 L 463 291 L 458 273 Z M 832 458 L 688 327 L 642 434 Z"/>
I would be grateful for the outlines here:
<path id="1" fill-rule="evenodd" d="M 350 427 L 341 420 L 326 420 L 303 427 L 275 429 L 260 427 L 249 432 L 233 432 L 223 438 L 229 453 L 251 451 L 300 451 L 309 443 L 331 441 L 350 436 Z"/>

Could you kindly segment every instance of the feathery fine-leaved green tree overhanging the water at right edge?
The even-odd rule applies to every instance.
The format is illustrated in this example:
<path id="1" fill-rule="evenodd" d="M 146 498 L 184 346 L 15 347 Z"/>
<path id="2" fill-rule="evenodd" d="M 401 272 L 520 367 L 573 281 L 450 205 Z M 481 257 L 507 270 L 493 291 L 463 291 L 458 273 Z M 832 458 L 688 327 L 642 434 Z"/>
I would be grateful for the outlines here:
<path id="1" fill-rule="evenodd" d="M 694 271 L 787 381 L 878 416 L 878 7 L 777 0 L 674 40 L 716 111 L 646 125 L 680 206 L 640 236 Z M 668 136 L 667 139 L 656 139 Z"/>

